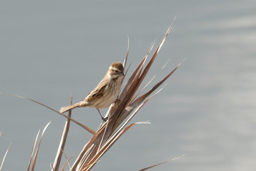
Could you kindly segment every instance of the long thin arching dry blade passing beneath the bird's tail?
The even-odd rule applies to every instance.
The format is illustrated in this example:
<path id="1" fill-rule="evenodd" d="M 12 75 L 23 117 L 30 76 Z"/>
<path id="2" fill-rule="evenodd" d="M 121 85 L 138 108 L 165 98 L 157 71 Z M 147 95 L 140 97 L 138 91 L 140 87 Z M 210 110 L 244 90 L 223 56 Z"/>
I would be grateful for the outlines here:
<path id="1" fill-rule="evenodd" d="M 6 94 L 8 96 L 15 96 L 15 97 L 18 97 L 20 99 L 26 99 L 26 100 L 29 100 L 31 102 L 34 102 L 34 103 L 37 103 L 39 105 L 42 105 L 43 107 L 47 107 L 48 109 L 52 110 L 53 112 L 55 113 L 58 113 L 59 115 L 62 115 L 64 116 L 65 118 L 68 118 L 70 121 L 73 121 L 74 123 L 77 123 L 79 126 L 81 126 L 83 129 L 86 129 L 88 132 L 90 132 L 91 134 L 94 134 L 94 130 L 90 129 L 88 126 L 84 125 L 83 123 L 80 123 L 78 121 L 75 121 L 75 119 L 73 118 L 69 118 L 69 116 L 67 115 L 64 115 L 63 113 L 59 113 L 58 110 L 54 110 L 52 107 L 49 107 L 48 105 L 45 105 L 45 104 L 42 104 L 41 102 L 37 102 L 36 100 L 34 99 L 29 99 L 29 98 L 26 98 L 24 96 L 19 96 L 19 95 L 16 95 L 16 94 L 7 94 L 7 93 L 4 93 L 4 92 L 0 92 L 0 94 Z"/>

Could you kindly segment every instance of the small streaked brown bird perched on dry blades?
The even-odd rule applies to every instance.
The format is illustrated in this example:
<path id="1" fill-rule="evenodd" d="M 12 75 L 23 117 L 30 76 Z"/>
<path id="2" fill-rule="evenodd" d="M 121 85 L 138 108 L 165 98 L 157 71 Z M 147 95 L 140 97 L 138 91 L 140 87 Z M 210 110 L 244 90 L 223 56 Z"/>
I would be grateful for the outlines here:
<path id="1" fill-rule="evenodd" d="M 102 78 L 96 88 L 89 93 L 81 102 L 61 107 L 60 113 L 65 113 L 76 107 L 95 107 L 99 109 L 110 106 L 116 101 L 121 89 L 121 83 L 124 78 L 124 66 L 121 62 L 114 62 L 108 69 L 105 77 Z M 99 112 L 102 117 L 102 114 Z M 107 118 L 103 118 L 105 121 Z"/>

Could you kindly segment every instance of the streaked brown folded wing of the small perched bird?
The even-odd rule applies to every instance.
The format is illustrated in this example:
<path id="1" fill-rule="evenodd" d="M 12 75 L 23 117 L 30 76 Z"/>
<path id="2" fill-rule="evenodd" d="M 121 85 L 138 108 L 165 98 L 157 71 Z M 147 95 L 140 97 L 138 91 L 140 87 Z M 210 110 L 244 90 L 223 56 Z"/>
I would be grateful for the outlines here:
<path id="1" fill-rule="evenodd" d="M 89 93 L 83 100 L 91 102 L 95 99 L 101 98 L 104 95 L 104 91 L 107 88 L 107 86 L 108 84 L 106 83 L 106 81 L 100 82 L 99 85 L 93 91 L 91 91 L 91 93 Z"/>

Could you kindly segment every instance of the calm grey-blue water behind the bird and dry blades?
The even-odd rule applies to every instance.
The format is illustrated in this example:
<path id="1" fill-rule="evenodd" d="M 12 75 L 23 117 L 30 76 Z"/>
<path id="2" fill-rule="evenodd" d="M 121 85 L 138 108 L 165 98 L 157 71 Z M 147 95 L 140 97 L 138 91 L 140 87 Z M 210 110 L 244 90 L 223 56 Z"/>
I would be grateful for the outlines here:
<path id="1" fill-rule="evenodd" d="M 0 91 L 56 110 L 69 104 L 72 92 L 78 102 L 113 61 L 123 61 L 127 35 L 134 69 L 177 16 L 147 80 L 156 75 L 157 83 L 187 60 L 133 119 L 151 125 L 130 129 L 94 170 L 138 170 L 182 154 L 154 170 L 255 170 L 255 9 L 249 0 L 2 0 Z M 5 95 L 0 118 L 0 160 L 12 142 L 4 170 L 26 170 L 38 129 L 51 121 L 37 161 L 37 170 L 50 170 L 65 119 Z M 91 108 L 74 110 L 74 118 L 92 129 L 100 121 Z M 77 156 L 90 136 L 72 123 L 67 156 Z"/>

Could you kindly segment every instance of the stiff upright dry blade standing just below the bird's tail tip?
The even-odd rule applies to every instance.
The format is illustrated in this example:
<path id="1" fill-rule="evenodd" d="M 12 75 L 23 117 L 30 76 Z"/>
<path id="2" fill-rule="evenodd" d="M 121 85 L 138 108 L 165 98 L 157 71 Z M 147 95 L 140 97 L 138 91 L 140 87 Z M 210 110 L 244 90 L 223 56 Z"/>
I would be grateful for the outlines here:
<path id="1" fill-rule="evenodd" d="M 73 96 L 71 96 L 70 104 L 72 104 L 72 99 L 73 99 Z M 69 110 L 69 114 L 68 114 L 69 118 L 71 118 L 71 113 L 72 113 L 72 110 Z M 53 162 L 52 170 L 59 170 L 59 166 L 61 164 L 61 157 L 62 157 L 64 147 L 65 147 L 65 144 L 66 144 L 66 141 L 67 141 L 67 134 L 69 132 L 69 126 L 70 126 L 70 120 L 67 119 L 67 121 L 65 123 L 65 126 L 64 126 L 64 129 L 63 129 L 61 142 L 59 143 L 58 152 L 57 152 L 56 158 Z"/>

